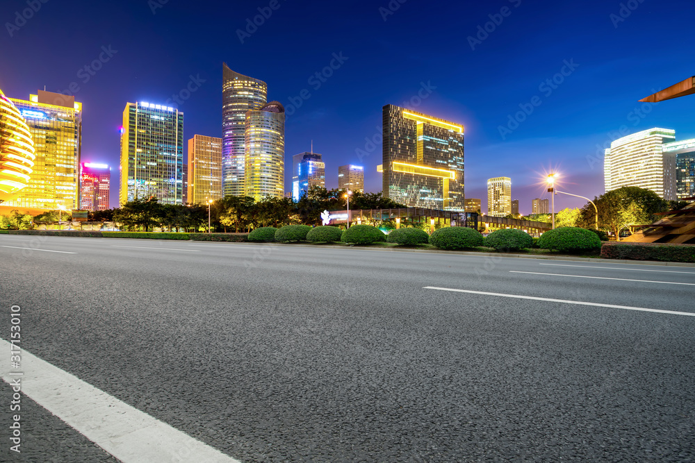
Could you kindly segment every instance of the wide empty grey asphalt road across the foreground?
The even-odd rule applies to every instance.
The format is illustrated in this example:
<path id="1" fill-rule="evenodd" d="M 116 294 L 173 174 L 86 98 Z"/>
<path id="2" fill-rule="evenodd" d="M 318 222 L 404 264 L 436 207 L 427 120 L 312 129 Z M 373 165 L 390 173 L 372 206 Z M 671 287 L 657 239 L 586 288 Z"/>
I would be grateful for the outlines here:
<path id="1" fill-rule="evenodd" d="M 695 461 L 695 317 L 629 309 L 695 313 L 692 267 L 17 235 L 0 267 L 1 338 L 20 305 L 33 355 L 245 463 Z M 40 408 L 0 460 L 108 458 Z"/>

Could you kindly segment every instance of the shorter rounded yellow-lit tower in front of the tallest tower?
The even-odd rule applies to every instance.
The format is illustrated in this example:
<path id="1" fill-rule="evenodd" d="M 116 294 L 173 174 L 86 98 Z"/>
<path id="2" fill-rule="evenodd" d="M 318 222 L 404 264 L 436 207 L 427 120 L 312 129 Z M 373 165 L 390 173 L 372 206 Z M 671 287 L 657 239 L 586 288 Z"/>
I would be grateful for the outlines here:
<path id="1" fill-rule="evenodd" d="M 285 108 L 271 101 L 246 113 L 244 194 L 282 198 L 285 183 Z"/>

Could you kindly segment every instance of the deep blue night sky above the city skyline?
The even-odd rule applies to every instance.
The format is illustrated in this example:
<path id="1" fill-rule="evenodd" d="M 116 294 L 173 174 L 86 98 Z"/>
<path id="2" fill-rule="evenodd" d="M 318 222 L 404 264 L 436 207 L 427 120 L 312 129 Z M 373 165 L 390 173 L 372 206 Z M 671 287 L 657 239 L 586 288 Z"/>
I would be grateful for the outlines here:
<path id="1" fill-rule="evenodd" d="M 38 11 L 27 10 L 31 3 Z M 112 206 L 126 102 L 165 103 L 175 94 L 181 103 L 170 106 L 184 112 L 184 146 L 194 134 L 221 137 L 222 62 L 267 82 L 268 99 L 288 108 L 286 191 L 291 157 L 309 151 L 311 140 L 324 156 L 327 187 L 337 187 L 339 165 L 353 163 L 366 168 L 366 190 L 380 191 L 382 106 L 389 103 L 463 124 L 466 197 L 482 198 L 485 208 L 487 178 L 509 176 L 523 214 L 532 199 L 549 197 L 539 178 L 550 169 L 562 172 L 564 191 L 603 194 L 598 146 L 621 136 L 621 126 L 622 135 L 658 126 L 675 129 L 676 140 L 695 137 L 695 96 L 638 103 L 695 74 L 692 0 L 630 0 L 622 10 L 617 0 L 2 5 L 0 89 L 28 99 L 44 85 L 63 92 L 74 83 L 83 103 L 83 161 L 113 166 Z M 247 19 L 259 8 L 270 15 L 248 34 Z M 26 21 L 17 17 L 24 10 Z M 84 67 L 100 56 L 91 75 Z M 325 74 L 332 75 L 316 78 L 331 64 L 337 69 Z M 310 97 L 301 99 L 305 89 Z M 522 108 L 532 112 L 509 125 Z M 500 126 L 514 130 L 500 133 Z M 585 202 L 556 199 L 557 209 Z"/>

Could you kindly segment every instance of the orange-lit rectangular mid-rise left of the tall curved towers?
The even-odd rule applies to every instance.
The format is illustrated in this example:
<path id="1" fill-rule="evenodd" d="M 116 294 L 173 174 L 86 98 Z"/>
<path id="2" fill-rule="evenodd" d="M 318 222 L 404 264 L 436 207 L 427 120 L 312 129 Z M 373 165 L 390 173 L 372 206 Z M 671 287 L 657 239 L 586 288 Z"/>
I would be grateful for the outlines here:
<path id="1" fill-rule="evenodd" d="M 188 140 L 188 203 L 222 198 L 222 139 L 193 135 Z"/>

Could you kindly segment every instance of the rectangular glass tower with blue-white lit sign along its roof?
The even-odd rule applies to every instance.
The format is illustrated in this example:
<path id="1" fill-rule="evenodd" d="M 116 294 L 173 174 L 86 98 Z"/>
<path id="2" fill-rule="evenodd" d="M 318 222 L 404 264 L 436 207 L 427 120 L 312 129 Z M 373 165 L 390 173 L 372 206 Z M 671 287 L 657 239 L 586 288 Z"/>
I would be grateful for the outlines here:
<path id="1" fill-rule="evenodd" d="M 183 204 L 183 112 L 127 103 L 121 131 L 120 203 L 152 196 Z"/>

